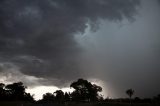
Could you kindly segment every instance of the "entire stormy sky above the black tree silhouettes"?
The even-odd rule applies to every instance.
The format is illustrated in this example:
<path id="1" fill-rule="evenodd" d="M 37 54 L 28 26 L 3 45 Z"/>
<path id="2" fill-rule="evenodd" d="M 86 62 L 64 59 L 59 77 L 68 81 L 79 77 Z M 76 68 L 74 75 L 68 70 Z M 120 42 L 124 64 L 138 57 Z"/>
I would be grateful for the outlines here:
<path id="1" fill-rule="evenodd" d="M 106 97 L 126 97 L 129 88 L 153 97 L 159 10 L 160 0 L 1 0 L 0 82 L 22 81 L 40 95 L 84 78 Z"/>

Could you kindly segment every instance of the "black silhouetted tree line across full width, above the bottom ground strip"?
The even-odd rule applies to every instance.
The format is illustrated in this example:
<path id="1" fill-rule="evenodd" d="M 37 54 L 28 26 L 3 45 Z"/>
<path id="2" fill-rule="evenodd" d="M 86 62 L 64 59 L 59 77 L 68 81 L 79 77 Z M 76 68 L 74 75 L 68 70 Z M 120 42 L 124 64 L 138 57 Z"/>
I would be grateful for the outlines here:
<path id="1" fill-rule="evenodd" d="M 126 94 L 129 96 L 128 99 L 104 99 L 99 92 L 102 91 L 102 87 L 92 84 L 91 82 L 78 79 L 70 84 L 70 87 L 74 89 L 73 92 L 63 92 L 62 90 L 56 90 L 53 93 L 43 94 L 41 100 L 35 101 L 34 95 L 26 92 L 26 86 L 22 82 L 16 82 L 5 85 L 0 83 L 0 101 L 28 101 L 38 103 L 69 103 L 69 102 L 135 102 L 135 103 L 160 103 L 160 95 L 154 98 L 140 99 L 139 97 L 132 98 L 135 93 L 133 89 L 127 89 Z"/>

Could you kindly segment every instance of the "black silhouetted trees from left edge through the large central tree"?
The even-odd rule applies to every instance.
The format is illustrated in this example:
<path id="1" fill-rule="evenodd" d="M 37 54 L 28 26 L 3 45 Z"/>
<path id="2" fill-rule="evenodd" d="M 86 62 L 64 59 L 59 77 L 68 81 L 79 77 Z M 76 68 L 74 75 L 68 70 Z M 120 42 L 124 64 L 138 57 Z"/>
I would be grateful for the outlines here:
<path id="1" fill-rule="evenodd" d="M 74 91 L 71 93 L 64 93 L 62 90 L 46 93 L 43 94 L 43 98 L 39 102 L 93 102 L 99 101 L 102 98 L 98 94 L 98 92 L 102 91 L 102 88 L 87 80 L 78 79 L 71 83 L 70 87 L 74 88 Z M 34 101 L 33 95 L 26 93 L 26 88 L 22 82 L 8 85 L 0 83 L 0 101 Z"/>

